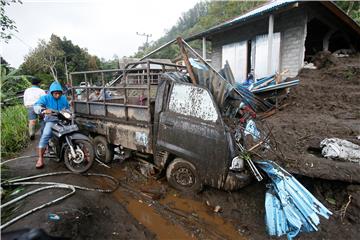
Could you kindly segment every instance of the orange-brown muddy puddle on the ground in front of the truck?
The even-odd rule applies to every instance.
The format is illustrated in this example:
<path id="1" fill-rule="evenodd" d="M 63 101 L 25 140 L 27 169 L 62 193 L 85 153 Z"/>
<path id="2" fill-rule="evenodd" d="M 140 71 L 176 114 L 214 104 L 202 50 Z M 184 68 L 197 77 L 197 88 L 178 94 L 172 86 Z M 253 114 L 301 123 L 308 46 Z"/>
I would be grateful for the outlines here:
<path id="1" fill-rule="evenodd" d="M 246 239 L 214 206 L 181 196 L 166 181 L 129 176 L 130 171 L 111 170 L 121 182 L 113 196 L 157 239 Z"/>

